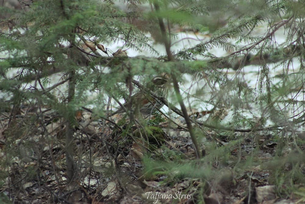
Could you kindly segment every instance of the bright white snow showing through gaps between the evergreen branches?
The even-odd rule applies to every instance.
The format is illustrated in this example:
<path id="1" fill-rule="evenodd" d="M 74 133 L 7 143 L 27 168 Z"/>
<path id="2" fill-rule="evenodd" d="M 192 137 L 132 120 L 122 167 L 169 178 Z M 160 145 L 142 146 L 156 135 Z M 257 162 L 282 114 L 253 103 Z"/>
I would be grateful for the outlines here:
<path id="1" fill-rule="evenodd" d="M 263 36 L 265 33 L 267 32 L 267 24 L 260 24 L 258 27 L 256 27 L 256 29 L 253 32 L 254 36 Z M 149 34 L 147 34 L 147 36 L 149 36 Z M 195 46 L 198 43 L 202 43 L 205 42 L 209 39 L 209 35 L 207 33 L 202 33 L 202 34 L 194 34 L 194 33 L 185 33 L 185 32 L 180 32 L 177 35 L 177 39 L 172 41 L 172 47 L 171 50 L 174 53 L 177 53 L 178 50 L 182 49 L 182 48 L 188 48 L 188 47 L 192 47 Z M 281 44 L 285 42 L 287 35 L 285 34 L 285 30 L 284 28 L 280 28 L 279 30 L 277 30 L 275 32 L 274 35 L 274 42 L 276 42 L 277 44 Z M 118 43 L 113 43 L 113 44 L 106 44 L 103 42 L 100 42 L 101 44 L 103 44 L 106 48 L 108 48 L 109 50 L 111 50 L 112 52 L 117 51 L 118 49 L 122 49 L 122 50 L 126 50 L 127 55 L 129 57 L 135 57 L 135 56 L 146 56 L 146 57 L 156 57 L 156 55 L 153 55 L 149 50 L 142 50 L 142 51 L 135 51 L 132 49 L 128 49 L 128 47 L 125 47 L 123 42 L 118 42 Z M 231 43 L 235 43 L 233 40 L 231 41 Z M 245 45 L 245 44 L 244 44 Z M 153 47 L 159 51 L 159 53 L 161 55 L 165 55 L 165 48 L 163 45 L 157 44 L 157 43 L 153 43 Z M 99 51 L 101 55 L 106 56 L 106 54 L 102 53 L 101 51 Z M 217 57 L 222 57 L 222 56 L 226 56 L 230 53 L 224 51 L 223 49 L 219 48 L 219 47 L 214 47 L 210 50 L 208 50 L 208 52 L 210 52 L 211 54 L 217 56 Z M 8 53 L 0 53 L 0 57 L 7 57 L 9 56 Z M 300 64 L 297 61 L 297 59 L 293 60 L 293 69 L 289 69 L 289 72 L 298 72 L 298 70 L 300 69 Z M 283 70 L 285 69 L 283 66 L 274 66 L 274 64 L 268 64 L 269 69 L 271 70 L 271 81 L 272 83 L 278 83 L 280 81 L 280 79 L 275 78 L 274 76 L 280 74 L 283 72 Z M 276 68 L 274 68 L 276 67 Z M 105 69 L 107 70 L 107 69 Z M 16 74 L 16 72 L 18 71 L 18 69 L 11 69 L 10 72 L 8 73 L 9 77 L 12 77 Z M 243 67 L 240 70 L 233 70 L 233 69 L 223 69 L 223 72 L 226 72 L 228 74 L 228 77 L 231 79 L 234 79 L 235 77 L 242 79 L 249 87 L 253 88 L 254 91 L 258 91 L 258 79 L 259 79 L 259 71 L 260 71 L 260 67 L 259 65 L 248 65 Z M 193 94 L 195 93 L 195 91 L 198 88 L 201 88 L 202 86 L 204 86 L 204 82 L 203 80 L 201 81 L 194 81 L 193 76 L 189 75 L 189 74 L 185 74 L 184 75 L 185 78 L 185 83 L 181 84 L 180 88 L 181 88 L 181 92 L 183 93 L 184 97 L 186 97 L 187 93 L 189 94 Z M 50 76 L 50 81 L 51 83 L 48 84 L 48 87 L 51 87 L 53 84 L 58 83 L 60 80 L 62 80 L 62 73 L 56 73 Z M 195 83 L 196 82 L 196 83 Z M 23 84 L 23 87 L 21 87 L 21 89 L 27 89 L 30 86 L 33 86 L 34 82 L 29 83 L 29 84 Z M 67 84 L 61 85 L 59 86 L 56 90 L 55 90 L 55 95 L 56 96 L 61 96 L 66 92 L 66 88 L 67 88 Z M 216 84 L 216 89 L 217 84 Z M 172 91 L 173 92 L 173 91 Z M 0 93 L 3 96 L 3 93 Z M 99 93 L 90 93 L 88 92 L 88 101 L 92 100 L 97 100 L 96 97 L 101 97 L 101 95 Z M 9 96 L 6 96 L 9 98 Z M 207 94 L 205 97 L 209 97 L 209 94 Z M 291 94 L 291 98 L 293 98 L 294 100 L 304 100 L 303 94 L 298 95 L 297 98 L 294 98 L 294 95 Z M 288 98 L 285 98 L 288 99 Z M 169 98 L 170 100 L 170 98 Z M 254 98 L 253 98 L 254 100 Z M 106 97 L 105 97 L 105 101 L 106 101 Z M 113 106 L 112 107 L 116 107 L 117 104 L 113 102 Z M 124 100 L 121 100 L 122 103 L 124 103 Z M 204 103 L 202 101 L 196 100 L 195 98 L 189 98 L 189 104 L 191 104 L 192 106 L 192 110 L 198 110 L 198 111 L 203 111 L 203 110 L 210 110 L 213 108 L 212 105 Z M 188 104 L 187 104 L 188 106 Z M 293 114 L 297 114 L 299 113 L 298 111 L 296 111 L 295 109 L 297 107 L 293 107 L 293 106 L 289 106 L 289 107 L 285 107 L 283 105 L 281 108 L 286 109 L 285 111 L 288 112 L 289 114 L 287 115 L 287 117 L 292 116 Z M 88 105 L 88 108 L 94 108 L 93 106 Z M 99 107 L 102 108 L 102 107 Z M 177 106 L 177 108 L 180 109 L 180 106 Z M 256 109 L 257 109 L 257 114 L 256 114 Z M 252 104 L 252 110 L 251 110 L 251 114 L 248 110 L 243 110 L 241 109 L 241 113 L 243 115 L 249 115 L 249 118 L 253 117 L 253 114 L 256 115 L 256 117 L 260 117 L 260 111 L 258 110 L 259 107 L 257 105 L 255 105 L 255 101 L 253 101 Z M 163 111 L 165 113 L 168 112 L 168 108 L 166 106 L 163 107 Z M 300 110 L 300 112 L 302 112 L 303 109 Z M 232 116 L 232 110 L 228 110 L 228 114 L 227 116 L 224 118 L 224 123 L 231 121 L 231 116 Z M 269 122 L 269 124 L 271 125 L 272 123 Z"/>

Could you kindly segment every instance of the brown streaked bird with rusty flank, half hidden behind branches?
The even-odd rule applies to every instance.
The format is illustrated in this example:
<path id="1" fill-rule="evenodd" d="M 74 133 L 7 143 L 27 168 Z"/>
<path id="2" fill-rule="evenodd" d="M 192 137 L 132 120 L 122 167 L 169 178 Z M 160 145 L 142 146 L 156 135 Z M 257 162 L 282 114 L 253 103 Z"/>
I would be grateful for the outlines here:
<path id="1" fill-rule="evenodd" d="M 154 92 L 156 95 L 167 97 L 169 89 L 169 75 L 163 73 L 153 77 L 150 83 L 147 84 L 146 88 L 147 90 Z M 125 109 L 127 109 L 127 104 L 130 104 L 130 102 L 132 103 L 132 109 L 134 112 L 138 111 L 145 116 L 152 114 L 164 106 L 163 102 L 153 97 L 145 90 L 141 90 L 132 95 L 127 102 L 123 104 Z M 117 111 L 111 114 L 111 116 L 124 112 L 125 110 L 122 107 L 119 107 Z"/>

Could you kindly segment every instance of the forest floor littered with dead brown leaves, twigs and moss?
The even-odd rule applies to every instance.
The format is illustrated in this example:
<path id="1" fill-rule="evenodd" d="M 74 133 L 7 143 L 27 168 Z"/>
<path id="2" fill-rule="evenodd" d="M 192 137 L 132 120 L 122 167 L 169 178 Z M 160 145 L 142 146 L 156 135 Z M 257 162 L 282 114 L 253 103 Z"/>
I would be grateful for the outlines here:
<path id="1" fill-rule="evenodd" d="M 8 174 L 0 191 L 7 196 L 15 195 L 14 203 L 69 203 L 63 190 L 66 188 L 64 123 L 56 121 L 56 115 L 46 109 L 44 122 L 48 134 L 22 135 L 25 128 L 34 130 L 37 125 L 33 121 L 36 111 L 24 107 L 12 121 L 9 117 L 2 120 L 2 158 L 10 158 L 13 152 L 18 152 L 19 157 L 14 157 L 7 167 Z M 199 119 L 206 114 L 209 113 L 197 112 L 193 116 Z M 283 192 L 289 191 L 285 189 L 288 186 L 274 185 L 278 175 L 272 169 L 289 172 L 295 163 L 291 154 L 282 157 L 276 154 L 278 143 L 271 140 L 272 135 L 235 132 L 235 143 L 231 144 L 230 136 L 222 135 L 221 131 L 206 131 L 199 137 L 202 158 L 197 160 L 182 117 L 174 118 L 175 123 L 163 120 L 148 126 L 149 143 L 143 143 L 145 139 L 141 137 L 146 136 L 137 134 L 136 127 L 129 127 L 134 130 L 130 137 L 115 124 L 105 123 L 86 110 L 78 112 L 76 118 L 74 150 L 79 190 L 73 192 L 77 200 L 72 203 L 305 202 L 302 186 L 285 197 Z M 117 115 L 112 120 L 119 124 L 124 118 Z M 5 124 L 9 122 L 7 128 Z M 124 122 L 127 126 L 128 121 Z M 19 137 L 5 139 L 7 132 Z M 8 150 L 12 144 L 16 149 Z M 221 155 L 224 149 L 227 153 Z M 288 154 L 290 150 L 282 152 Z M 239 165 L 246 162 L 244 168 Z M 180 168 L 183 165 L 186 166 Z M 188 167 L 198 168 L 197 174 L 187 172 Z M 300 168 L 305 170 L 304 165 Z"/>

